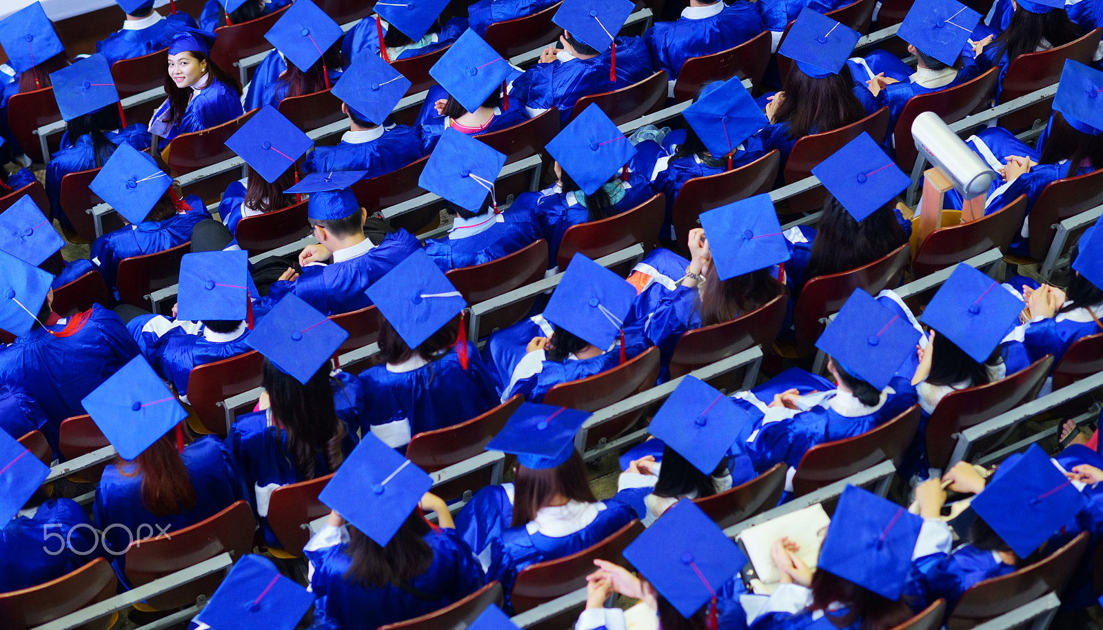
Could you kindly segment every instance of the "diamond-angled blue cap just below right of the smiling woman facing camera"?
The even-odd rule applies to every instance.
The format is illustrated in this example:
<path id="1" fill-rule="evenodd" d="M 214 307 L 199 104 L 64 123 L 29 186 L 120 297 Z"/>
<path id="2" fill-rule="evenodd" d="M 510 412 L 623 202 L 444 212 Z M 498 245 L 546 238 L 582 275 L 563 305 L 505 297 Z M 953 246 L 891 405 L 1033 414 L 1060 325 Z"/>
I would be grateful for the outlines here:
<path id="1" fill-rule="evenodd" d="M 265 105 L 226 140 L 226 146 L 268 183 L 295 165 L 313 143 L 271 105 Z"/>

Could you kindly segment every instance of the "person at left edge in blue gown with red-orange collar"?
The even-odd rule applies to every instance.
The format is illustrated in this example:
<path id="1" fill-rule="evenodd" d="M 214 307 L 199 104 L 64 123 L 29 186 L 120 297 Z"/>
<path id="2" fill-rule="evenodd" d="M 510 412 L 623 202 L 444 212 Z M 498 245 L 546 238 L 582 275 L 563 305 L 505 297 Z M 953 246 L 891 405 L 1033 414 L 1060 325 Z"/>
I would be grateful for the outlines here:
<path id="1" fill-rule="evenodd" d="M 0 295 L 10 296 L 0 301 L 0 329 L 15 337 L 0 348 L 0 384 L 22 389 L 42 408 L 42 433 L 56 457 L 62 420 L 84 415 L 81 399 L 137 356 L 138 346 L 118 316 L 99 305 L 56 319 L 53 277 L 4 252 L 0 260 Z"/>

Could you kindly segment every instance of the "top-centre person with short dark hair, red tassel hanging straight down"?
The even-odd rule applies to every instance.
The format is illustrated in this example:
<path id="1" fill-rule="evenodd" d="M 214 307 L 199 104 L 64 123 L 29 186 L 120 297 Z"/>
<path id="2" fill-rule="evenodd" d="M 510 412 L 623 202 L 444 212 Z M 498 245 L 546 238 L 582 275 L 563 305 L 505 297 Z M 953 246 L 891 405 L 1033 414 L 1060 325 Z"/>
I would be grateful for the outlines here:
<path id="1" fill-rule="evenodd" d="M 651 76 L 651 55 L 643 40 L 613 40 L 632 4 L 602 0 L 599 7 L 599 14 L 591 15 L 589 3 L 565 0 L 555 17 L 556 24 L 564 28 L 559 35 L 563 49 L 545 49 L 539 62 L 513 82 L 510 96 L 524 104 L 531 118 L 555 107 L 566 125 L 579 98 Z"/>

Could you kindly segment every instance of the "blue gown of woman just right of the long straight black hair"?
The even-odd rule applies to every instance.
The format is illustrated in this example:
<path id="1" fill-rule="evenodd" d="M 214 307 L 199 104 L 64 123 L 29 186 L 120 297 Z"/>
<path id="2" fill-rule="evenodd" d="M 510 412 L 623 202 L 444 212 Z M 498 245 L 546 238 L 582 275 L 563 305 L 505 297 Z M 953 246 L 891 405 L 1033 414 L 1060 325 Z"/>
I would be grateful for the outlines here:
<path id="1" fill-rule="evenodd" d="M 468 342 L 467 351 L 467 370 L 460 366 L 453 346 L 440 359 L 409 372 L 389 372 L 386 364 L 361 372 L 365 397 L 361 429 L 378 434 L 397 448 L 409 441 L 406 436 L 470 420 L 497 405 L 494 380 L 479 349 Z M 395 435 L 405 439 L 397 440 L 400 444 L 387 439 Z"/>

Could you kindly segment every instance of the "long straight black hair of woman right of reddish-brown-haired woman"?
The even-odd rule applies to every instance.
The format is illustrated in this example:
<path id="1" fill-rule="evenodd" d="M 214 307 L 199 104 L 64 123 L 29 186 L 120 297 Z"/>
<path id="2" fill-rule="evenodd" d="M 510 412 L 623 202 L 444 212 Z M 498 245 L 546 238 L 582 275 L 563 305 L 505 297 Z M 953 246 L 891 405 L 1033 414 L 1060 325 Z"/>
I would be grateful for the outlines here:
<path id="1" fill-rule="evenodd" d="M 330 362 L 326 361 L 310 381 L 302 384 L 265 359 L 260 386 L 268 392 L 276 424 L 268 430 L 282 428 L 287 431 L 283 455 L 299 476 L 303 480 L 317 476 L 314 468 L 319 455 L 325 461 L 325 472 L 335 471 L 344 459 L 341 442 L 345 428 L 333 407 Z"/>

